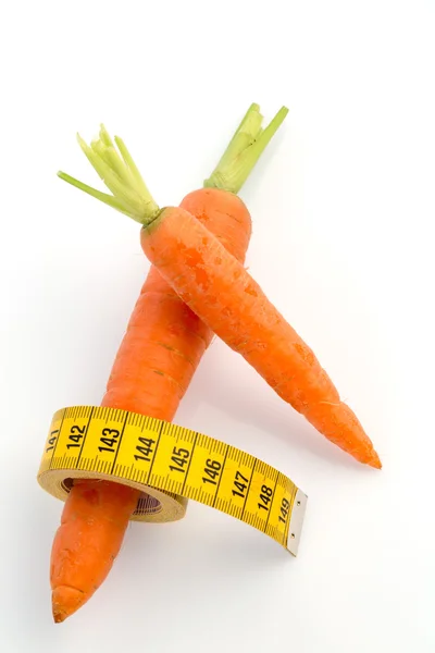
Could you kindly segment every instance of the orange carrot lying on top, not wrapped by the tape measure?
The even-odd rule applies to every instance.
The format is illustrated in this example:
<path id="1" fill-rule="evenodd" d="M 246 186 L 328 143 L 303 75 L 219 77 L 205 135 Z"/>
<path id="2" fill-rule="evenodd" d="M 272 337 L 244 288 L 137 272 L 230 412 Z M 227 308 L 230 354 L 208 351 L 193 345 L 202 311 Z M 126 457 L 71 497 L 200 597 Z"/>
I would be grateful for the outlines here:
<path id="1" fill-rule="evenodd" d="M 101 173 L 100 162 L 91 163 Z M 215 180 L 212 175 L 211 183 Z M 125 184 L 123 190 L 134 187 Z M 313 352 L 244 266 L 183 207 L 160 211 L 148 190 L 126 201 L 123 212 L 142 224 L 145 254 L 189 308 L 320 433 L 360 463 L 381 468 L 371 440 Z"/>

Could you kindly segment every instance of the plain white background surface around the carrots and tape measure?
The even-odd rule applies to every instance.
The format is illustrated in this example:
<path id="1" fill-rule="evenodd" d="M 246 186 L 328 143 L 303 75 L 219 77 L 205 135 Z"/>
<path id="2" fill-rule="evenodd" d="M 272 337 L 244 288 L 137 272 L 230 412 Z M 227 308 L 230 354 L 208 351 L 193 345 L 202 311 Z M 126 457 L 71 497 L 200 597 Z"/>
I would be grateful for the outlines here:
<path id="1" fill-rule="evenodd" d="M 432 0 L 9 2 L 1 9 L 0 623 L 5 651 L 430 653 L 435 5 Z M 75 143 L 100 121 L 161 205 L 201 185 L 240 116 L 290 113 L 241 196 L 253 276 L 382 456 L 314 432 L 221 342 L 177 422 L 308 494 L 298 558 L 189 504 L 134 525 L 66 623 L 50 614 L 61 504 L 36 483 L 52 412 L 98 404 L 148 263 Z M 432 280 L 431 280 L 432 276 Z"/>

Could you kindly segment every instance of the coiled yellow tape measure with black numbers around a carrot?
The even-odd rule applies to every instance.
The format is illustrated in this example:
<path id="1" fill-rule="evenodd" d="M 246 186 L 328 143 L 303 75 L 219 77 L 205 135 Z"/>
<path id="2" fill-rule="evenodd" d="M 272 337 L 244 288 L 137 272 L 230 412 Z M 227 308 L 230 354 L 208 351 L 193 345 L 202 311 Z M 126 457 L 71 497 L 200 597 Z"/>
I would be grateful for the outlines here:
<path id="1" fill-rule="evenodd" d="M 62 408 L 51 422 L 38 481 L 65 500 L 76 478 L 140 490 L 135 520 L 181 519 L 192 498 L 297 554 L 303 492 L 270 465 L 196 431 L 114 408 Z"/>

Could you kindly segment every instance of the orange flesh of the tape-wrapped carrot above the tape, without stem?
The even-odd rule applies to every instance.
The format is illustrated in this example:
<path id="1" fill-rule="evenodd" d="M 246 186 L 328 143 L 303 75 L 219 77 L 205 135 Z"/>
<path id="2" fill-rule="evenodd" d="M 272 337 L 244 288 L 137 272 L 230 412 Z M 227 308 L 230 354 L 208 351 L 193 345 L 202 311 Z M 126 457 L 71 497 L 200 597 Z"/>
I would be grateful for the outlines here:
<path id="1" fill-rule="evenodd" d="M 207 233 L 217 234 L 216 238 L 243 264 L 251 221 L 241 199 L 224 190 L 201 188 L 187 195 L 181 204 L 184 206 L 207 224 Z M 119 349 L 102 405 L 171 421 L 212 337 L 213 332 L 151 268 Z"/>

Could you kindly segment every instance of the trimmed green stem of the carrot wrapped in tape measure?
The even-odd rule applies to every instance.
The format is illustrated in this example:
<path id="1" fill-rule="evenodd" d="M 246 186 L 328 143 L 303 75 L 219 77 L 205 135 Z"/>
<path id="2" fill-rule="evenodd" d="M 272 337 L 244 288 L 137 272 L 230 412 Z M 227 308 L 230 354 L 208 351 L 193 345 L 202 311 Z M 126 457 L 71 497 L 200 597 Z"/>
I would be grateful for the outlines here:
<path id="1" fill-rule="evenodd" d="M 204 186 L 237 194 L 287 113 L 288 109 L 282 107 L 263 130 L 260 107 L 251 104 Z"/>

